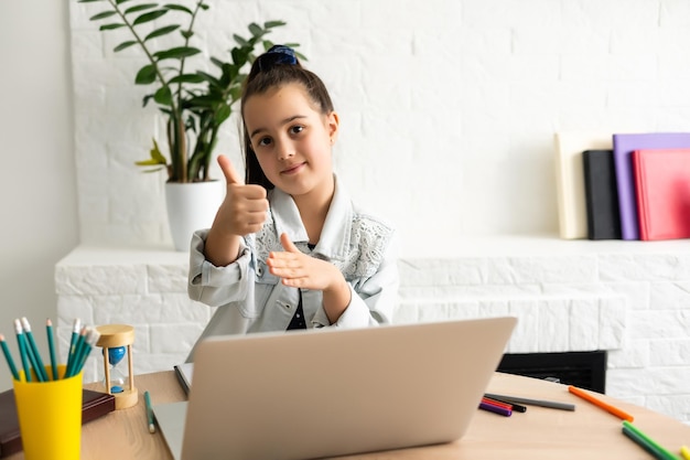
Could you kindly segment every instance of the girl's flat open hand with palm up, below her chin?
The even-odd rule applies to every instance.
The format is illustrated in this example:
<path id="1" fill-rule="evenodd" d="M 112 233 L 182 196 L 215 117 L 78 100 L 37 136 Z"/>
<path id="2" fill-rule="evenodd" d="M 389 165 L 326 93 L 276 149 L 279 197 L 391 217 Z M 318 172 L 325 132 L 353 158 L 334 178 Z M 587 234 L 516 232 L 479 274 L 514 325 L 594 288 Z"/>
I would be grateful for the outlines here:
<path id="1" fill-rule="evenodd" d="M 302 254 L 284 233 L 280 235 L 280 243 L 285 250 L 269 254 L 266 263 L 270 272 L 280 277 L 285 286 L 323 291 L 326 315 L 331 323 L 337 321 L 352 297 L 341 270 L 331 263 Z"/>

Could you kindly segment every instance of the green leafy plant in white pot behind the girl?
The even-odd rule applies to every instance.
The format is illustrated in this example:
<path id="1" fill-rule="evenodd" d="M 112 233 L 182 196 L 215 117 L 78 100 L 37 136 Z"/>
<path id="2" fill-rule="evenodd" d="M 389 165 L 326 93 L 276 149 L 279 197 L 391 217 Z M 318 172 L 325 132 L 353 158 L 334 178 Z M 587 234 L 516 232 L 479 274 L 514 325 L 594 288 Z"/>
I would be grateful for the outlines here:
<path id="1" fill-rule="evenodd" d="M 143 106 L 157 104 L 166 119 L 166 139 L 159 143 L 154 137 L 150 158 L 136 163 L 145 168 L 145 172 L 164 170 L 168 173 L 165 197 L 171 233 L 175 248 L 186 250 L 191 233 L 211 224 L 222 200 L 223 190 L 217 186 L 218 181 L 209 178 L 209 165 L 219 128 L 230 117 L 233 105 L 240 97 L 247 76 L 244 71 L 254 62 L 259 45 L 263 50 L 273 45 L 266 35 L 285 23 L 250 23 L 248 38 L 233 35 L 236 43 L 229 50 L 229 61 L 209 58 L 217 68 L 216 73 L 209 73 L 190 68 L 190 63 L 197 63 L 202 53 L 194 46 L 194 26 L 198 14 L 209 9 L 204 0 L 196 1 L 193 8 L 182 3 L 159 6 L 147 0 L 77 1 L 104 3 L 107 8 L 89 19 L 101 23 L 100 31 L 126 30 L 129 36 L 114 51 L 139 47 L 148 60 L 137 72 L 134 83 L 153 87 L 152 93 L 143 97 Z M 164 18 L 171 19 L 171 23 L 161 25 Z M 292 43 L 290 46 L 299 45 Z M 163 153 L 165 147 L 168 157 Z M 192 189 L 200 188 L 181 186 L 214 183 L 216 186 L 212 190 L 216 195 L 211 199 L 188 197 Z M 181 202 L 175 203 L 176 200 Z M 202 215 L 195 218 L 185 217 L 188 213 L 200 212 Z"/>

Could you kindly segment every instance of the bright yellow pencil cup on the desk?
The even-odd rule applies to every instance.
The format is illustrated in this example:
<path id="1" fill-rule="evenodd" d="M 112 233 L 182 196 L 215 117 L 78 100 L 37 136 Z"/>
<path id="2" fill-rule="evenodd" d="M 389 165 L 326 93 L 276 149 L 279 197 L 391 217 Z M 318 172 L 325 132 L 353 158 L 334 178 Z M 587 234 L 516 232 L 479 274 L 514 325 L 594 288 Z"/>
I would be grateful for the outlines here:
<path id="1" fill-rule="evenodd" d="M 24 372 L 13 381 L 19 429 L 25 460 L 78 460 L 82 448 L 82 373 L 62 378 L 26 382 Z M 46 366 L 52 378 L 52 368 Z"/>

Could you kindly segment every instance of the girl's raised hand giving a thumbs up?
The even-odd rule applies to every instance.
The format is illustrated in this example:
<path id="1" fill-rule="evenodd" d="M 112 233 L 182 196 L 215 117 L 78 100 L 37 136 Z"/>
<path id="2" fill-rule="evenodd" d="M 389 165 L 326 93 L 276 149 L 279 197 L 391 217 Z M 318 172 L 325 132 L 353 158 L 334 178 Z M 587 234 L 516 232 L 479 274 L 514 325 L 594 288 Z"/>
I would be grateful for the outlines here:
<path id="1" fill-rule="evenodd" d="M 258 232 L 263 226 L 268 211 L 266 189 L 261 185 L 246 185 L 229 158 L 218 156 L 218 164 L 227 182 L 227 192 L 216 214 L 214 229 L 226 236 L 245 236 Z"/>

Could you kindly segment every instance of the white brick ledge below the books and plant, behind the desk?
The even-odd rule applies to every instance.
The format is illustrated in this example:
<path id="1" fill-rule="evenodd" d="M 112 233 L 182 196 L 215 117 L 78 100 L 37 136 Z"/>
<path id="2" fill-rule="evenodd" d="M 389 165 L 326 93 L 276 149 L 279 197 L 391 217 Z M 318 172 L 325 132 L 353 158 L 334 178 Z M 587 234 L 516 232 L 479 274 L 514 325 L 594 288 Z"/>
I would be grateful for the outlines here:
<path id="1" fill-rule="evenodd" d="M 690 245 L 587 243 L 468 239 L 463 256 L 401 259 L 395 322 L 515 315 L 507 352 L 607 350 L 607 394 L 690 422 Z M 80 318 L 134 325 L 134 373 L 184 361 L 212 313 L 187 298 L 187 264 L 172 250 L 76 248 L 55 268 L 63 354 Z M 94 353 L 86 378 L 100 365 Z"/>

